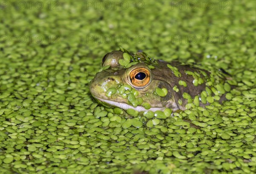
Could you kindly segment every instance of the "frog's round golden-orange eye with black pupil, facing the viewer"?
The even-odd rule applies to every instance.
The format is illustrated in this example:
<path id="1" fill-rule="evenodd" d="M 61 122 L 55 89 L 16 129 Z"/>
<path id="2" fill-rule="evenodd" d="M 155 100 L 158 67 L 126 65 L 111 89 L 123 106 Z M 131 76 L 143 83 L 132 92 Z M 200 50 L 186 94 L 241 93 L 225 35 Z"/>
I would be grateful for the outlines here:
<path id="1" fill-rule="evenodd" d="M 134 86 L 146 86 L 150 81 L 150 72 L 146 68 L 136 68 L 130 72 L 130 80 Z"/>

